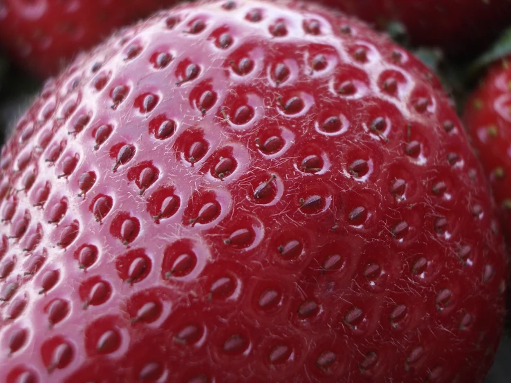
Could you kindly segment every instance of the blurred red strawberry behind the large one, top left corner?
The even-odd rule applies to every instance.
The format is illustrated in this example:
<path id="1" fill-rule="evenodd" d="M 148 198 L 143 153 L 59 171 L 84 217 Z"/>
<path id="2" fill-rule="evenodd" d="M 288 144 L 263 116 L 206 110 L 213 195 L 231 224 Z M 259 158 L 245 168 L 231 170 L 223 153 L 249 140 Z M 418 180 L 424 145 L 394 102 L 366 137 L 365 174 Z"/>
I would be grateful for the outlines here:
<path id="1" fill-rule="evenodd" d="M 41 77 L 80 50 L 175 0 L 1 0 L 0 45 Z"/>

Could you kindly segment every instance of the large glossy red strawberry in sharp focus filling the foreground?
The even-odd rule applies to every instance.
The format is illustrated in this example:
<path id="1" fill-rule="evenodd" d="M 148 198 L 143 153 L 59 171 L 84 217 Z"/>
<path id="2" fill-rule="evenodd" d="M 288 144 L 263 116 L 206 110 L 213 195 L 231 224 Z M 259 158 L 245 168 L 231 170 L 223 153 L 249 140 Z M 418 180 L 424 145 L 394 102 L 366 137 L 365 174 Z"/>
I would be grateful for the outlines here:
<path id="1" fill-rule="evenodd" d="M 492 203 L 434 75 L 304 3 L 180 6 L 0 161 L 0 381 L 481 382 Z"/>

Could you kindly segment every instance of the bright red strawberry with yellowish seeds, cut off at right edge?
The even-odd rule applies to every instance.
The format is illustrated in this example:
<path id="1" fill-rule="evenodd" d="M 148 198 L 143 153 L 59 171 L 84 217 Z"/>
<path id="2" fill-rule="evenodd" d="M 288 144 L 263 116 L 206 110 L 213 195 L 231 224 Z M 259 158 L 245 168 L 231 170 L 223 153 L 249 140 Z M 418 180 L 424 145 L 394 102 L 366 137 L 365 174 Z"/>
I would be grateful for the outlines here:
<path id="1" fill-rule="evenodd" d="M 467 102 L 464 119 L 499 204 L 505 237 L 511 243 L 511 68 L 508 59 L 490 68 Z"/>

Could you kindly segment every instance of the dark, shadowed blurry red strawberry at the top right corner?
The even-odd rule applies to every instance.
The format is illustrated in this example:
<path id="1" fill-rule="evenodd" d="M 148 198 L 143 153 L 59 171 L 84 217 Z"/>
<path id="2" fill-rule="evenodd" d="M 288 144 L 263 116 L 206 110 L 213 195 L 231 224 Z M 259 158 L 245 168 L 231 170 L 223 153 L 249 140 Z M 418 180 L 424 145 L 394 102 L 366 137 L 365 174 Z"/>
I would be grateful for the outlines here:
<path id="1" fill-rule="evenodd" d="M 414 44 L 450 55 L 484 49 L 511 18 L 510 0 L 321 0 L 386 28 L 400 21 Z"/>

